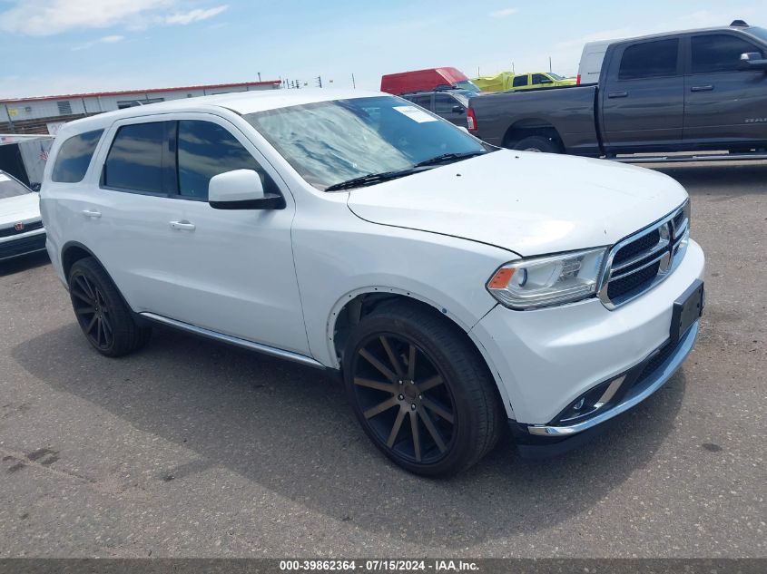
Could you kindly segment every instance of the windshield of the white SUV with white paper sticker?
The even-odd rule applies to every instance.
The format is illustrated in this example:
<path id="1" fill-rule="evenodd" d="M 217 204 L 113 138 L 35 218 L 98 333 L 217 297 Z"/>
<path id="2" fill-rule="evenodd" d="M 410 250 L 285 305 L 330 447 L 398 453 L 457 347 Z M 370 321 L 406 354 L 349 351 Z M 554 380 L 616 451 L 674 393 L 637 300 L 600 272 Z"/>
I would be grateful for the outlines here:
<path id="1" fill-rule="evenodd" d="M 445 154 L 487 151 L 465 131 L 394 96 L 307 103 L 245 119 L 320 190 Z"/>

